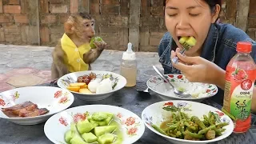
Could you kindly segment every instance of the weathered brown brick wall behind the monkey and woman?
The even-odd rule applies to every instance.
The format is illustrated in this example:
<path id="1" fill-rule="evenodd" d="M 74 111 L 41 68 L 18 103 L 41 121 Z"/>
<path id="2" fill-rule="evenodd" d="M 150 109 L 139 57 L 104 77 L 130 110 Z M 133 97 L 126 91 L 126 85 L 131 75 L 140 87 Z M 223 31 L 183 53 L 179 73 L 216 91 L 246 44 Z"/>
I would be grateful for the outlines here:
<path id="1" fill-rule="evenodd" d="M 126 50 L 134 42 L 135 50 L 156 51 L 166 32 L 162 8 L 162 0 L 0 0 L 0 43 L 55 46 L 69 14 L 90 12 L 110 49 Z M 238 1 L 224 0 L 222 22 L 236 25 L 237 10 Z M 255 11 L 250 0 L 246 32 L 254 39 Z"/>

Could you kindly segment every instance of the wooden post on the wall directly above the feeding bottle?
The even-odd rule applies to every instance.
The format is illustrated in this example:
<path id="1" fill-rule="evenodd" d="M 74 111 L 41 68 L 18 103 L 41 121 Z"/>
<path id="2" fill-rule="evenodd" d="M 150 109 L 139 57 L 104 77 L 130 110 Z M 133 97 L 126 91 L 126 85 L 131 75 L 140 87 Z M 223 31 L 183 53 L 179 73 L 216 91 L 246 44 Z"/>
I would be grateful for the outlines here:
<path id="1" fill-rule="evenodd" d="M 140 14 L 141 0 L 130 0 L 129 42 L 133 44 L 134 51 L 138 51 L 139 46 Z"/>

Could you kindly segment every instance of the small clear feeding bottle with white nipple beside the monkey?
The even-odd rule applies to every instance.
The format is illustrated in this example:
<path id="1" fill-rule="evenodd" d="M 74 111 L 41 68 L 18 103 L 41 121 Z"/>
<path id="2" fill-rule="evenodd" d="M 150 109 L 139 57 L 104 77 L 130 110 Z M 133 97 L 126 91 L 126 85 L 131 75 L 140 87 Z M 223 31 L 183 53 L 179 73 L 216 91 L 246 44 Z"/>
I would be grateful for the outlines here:
<path id="1" fill-rule="evenodd" d="M 137 62 L 132 44 L 129 42 L 126 52 L 122 54 L 122 63 L 120 67 L 120 74 L 126 78 L 126 87 L 136 85 L 137 78 Z"/>

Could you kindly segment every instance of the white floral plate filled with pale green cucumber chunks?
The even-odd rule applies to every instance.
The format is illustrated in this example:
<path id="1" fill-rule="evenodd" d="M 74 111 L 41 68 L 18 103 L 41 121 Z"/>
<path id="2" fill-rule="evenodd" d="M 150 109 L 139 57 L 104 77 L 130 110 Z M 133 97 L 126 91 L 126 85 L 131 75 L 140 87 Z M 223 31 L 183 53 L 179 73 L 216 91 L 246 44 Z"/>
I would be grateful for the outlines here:
<path id="1" fill-rule="evenodd" d="M 109 105 L 73 107 L 55 114 L 44 126 L 46 137 L 56 144 L 130 144 L 144 130 L 138 115 Z"/>

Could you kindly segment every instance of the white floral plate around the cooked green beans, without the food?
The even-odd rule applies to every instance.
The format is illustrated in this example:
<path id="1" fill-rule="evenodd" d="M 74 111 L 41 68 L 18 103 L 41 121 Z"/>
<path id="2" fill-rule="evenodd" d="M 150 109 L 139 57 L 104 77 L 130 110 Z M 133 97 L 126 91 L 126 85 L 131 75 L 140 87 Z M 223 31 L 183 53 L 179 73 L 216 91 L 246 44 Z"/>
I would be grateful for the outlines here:
<path id="1" fill-rule="evenodd" d="M 155 125 L 159 126 L 167 117 L 170 117 L 171 112 L 163 110 L 162 108 L 164 106 L 176 106 L 180 108 L 183 112 L 191 116 L 197 116 L 201 120 L 203 119 L 203 114 L 208 115 L 208 112 L 214 112 L 214 114 L 218 114 L 218 118 L 221 122 L 229 122 L 228 126 L 224 126 L 223 128 L 226 129 L 222 133 L 222 136 L 219 136 L 217 138 L 214 138 L 212 140 L 206 140 L 206 141 L 190 141 L 185 139 L 179 139 L 179 138 L 172 138 L 169 136 L 166 136 L 164 134 L 160 134 L 157 130 L 154 130 L 153 127 L 150 126 L 150 122 L 154 123 Z M 155 134 L 158 134 L 162 136 L 162 138 L 166 138 L 170 142 L 174 143 L 209 143 L 209 142 L 217 142 L 224 138 L 227 138 L 234 130 L 234 123 L 228 117 L 226 114 L 222 113 L 221 110 L 218 110 L 212 106 L 208 106 L 199 102 L 191 102 L 191 101 L 182 101 L 182 100 L 173 100 L 173 101 L 163 101 L 163 102 L 157 102 L 150 106 L 147 106 L 146 109 L 142 111 L 142 121 L 148 127 L 151 131 L 153 131 Z"/>

